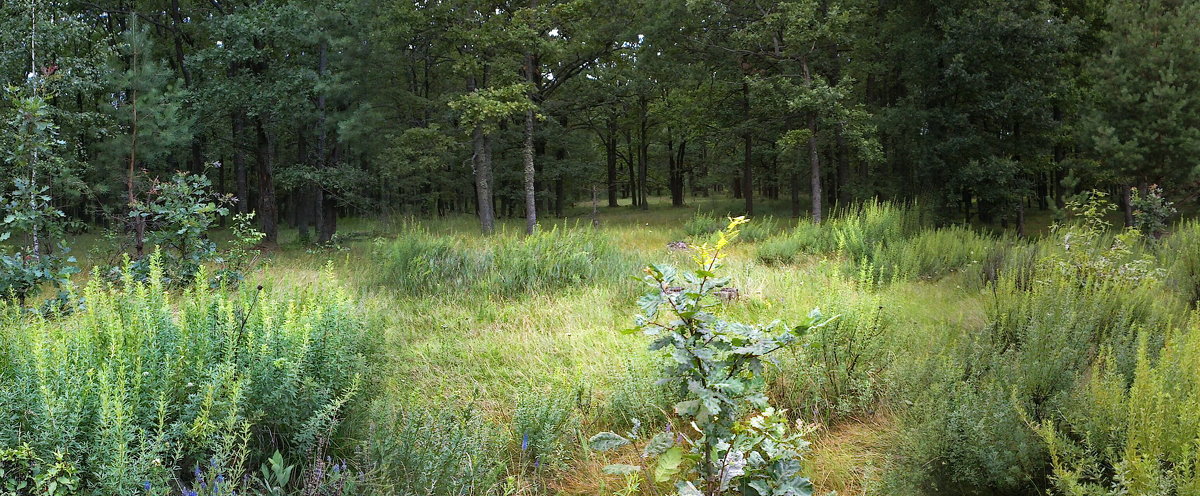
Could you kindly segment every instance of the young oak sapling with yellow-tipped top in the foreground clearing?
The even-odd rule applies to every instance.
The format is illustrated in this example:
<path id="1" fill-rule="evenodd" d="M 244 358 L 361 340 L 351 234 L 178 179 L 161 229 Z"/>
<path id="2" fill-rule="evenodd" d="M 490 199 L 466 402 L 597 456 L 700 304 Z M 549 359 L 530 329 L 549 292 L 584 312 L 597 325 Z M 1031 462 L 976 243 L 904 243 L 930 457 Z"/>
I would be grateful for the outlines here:
<path id="1" fill-rule="evenodd" d="M 788 426 L 784 412 L 768 406 L 763 367 L 769 354 L 797 343 L 805 331 L 828 321 L 814 310 L 800 325 L 780 329 L 778 322 L 746 325 L 718 316 L 722 299 L 716 292 L 728 280 L 714 270 L 744 222 L 744 217 L 731 220 L 713 245 L 697 247 L 694 271 L 680 274 L 667 265 L 644 270 L 644 282 L 655 291 L 638 299 L 643 313 L 631 331 L 653 337 L 650 349 L 671 352 L 673 361 L 662 382 L 686 386 L 686 399 L 676 404 L 674 412 L 680 424 L 694 430 L 679 428 L 676 440 L 670 429 L 654 436 L 643 458 L 654 460 L 654 482 L 673 483 L 680 495 L 809 495 L 811 484 L 800 474 L 808 446 L 804 432 Z M 662 309 L 666 311 L 660 312 Z M 598 450 L 628 443 L 614 432 L 601 432 L 589 441 Z M 612 473 L 640 470 L 608 467 Z"/>

